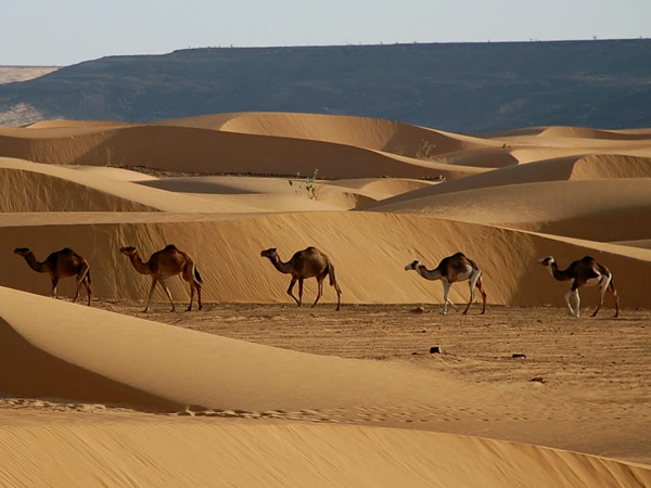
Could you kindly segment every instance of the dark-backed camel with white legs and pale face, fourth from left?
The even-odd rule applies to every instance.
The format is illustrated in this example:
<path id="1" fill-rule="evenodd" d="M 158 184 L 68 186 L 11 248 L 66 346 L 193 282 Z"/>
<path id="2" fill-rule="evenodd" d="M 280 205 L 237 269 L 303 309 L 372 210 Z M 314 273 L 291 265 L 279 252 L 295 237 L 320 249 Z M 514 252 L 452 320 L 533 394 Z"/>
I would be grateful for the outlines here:
<path id="1" fill-rule="evenodd" d="M 482 294 L 482 298 L 484 300 L 484 307 L 482 308 L 482 313 L 486 312 L 486 294 L 484 293 L 484 286 L 482 283 L 482 270 L 475 265 L 473 261 L 468 259 L 463 253 L 457 253 L 452 256 L 448 256 L 443 258 L 443 260 L 438 264 L 436 269 L 429 270 L 423 265 L 419 262 L 418 259 L 414 259 L 409 265 L 405 267 L 406 271 L 414 270 L 421 277 L 426 280 L 441 280 L 443 283 L 443 296 L 444 296 L 444 306 L 441 311 L 442 316 L 447 314 L 447 306 L 448 304 L 454 307 L 455 310 L 459 311 L 459 307 L 452 304 L 449 299 L 450 286 L 452 283 L 458 281 L 469 280 L 470 282 L 470 300 L 463 310 L 463 314 L 468 313 L 470 309 L 470 305 L 474 300 L 474 288 L 475 286 L 480 290 Z"/>

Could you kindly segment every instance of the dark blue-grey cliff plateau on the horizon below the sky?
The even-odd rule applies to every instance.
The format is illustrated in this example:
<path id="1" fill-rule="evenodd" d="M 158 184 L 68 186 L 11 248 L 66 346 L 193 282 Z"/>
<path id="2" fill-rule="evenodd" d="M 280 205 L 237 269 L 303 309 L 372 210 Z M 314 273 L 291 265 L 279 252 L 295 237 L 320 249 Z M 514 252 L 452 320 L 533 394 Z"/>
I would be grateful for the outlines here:
<path id="1" fill-rule="evenodd" d="M 206 48 L 111 56 L 0 86 L 0 112 L 154 120 L 308 112 L 462 133 L 650 127 L 651 40 Z"/>

